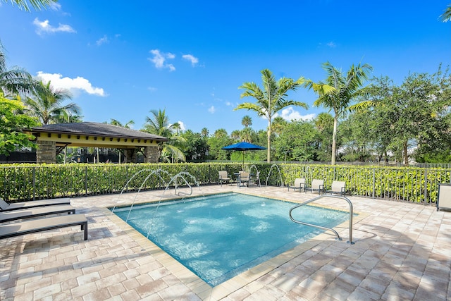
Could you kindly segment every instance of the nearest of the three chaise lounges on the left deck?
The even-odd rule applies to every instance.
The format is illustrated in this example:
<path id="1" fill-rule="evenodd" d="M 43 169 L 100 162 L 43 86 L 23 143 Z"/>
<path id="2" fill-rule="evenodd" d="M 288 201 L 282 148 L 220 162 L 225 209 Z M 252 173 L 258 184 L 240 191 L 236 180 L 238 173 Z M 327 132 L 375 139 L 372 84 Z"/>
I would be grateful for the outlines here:
<path id="1" fill-rule="evenodd" d="M 81 229 L 85 231 L 85 240 L 87 240 L 87 219 L 85 214 L 54 216 L 0 225 L 0 239 L 72 226 L 81 226 Z"/>

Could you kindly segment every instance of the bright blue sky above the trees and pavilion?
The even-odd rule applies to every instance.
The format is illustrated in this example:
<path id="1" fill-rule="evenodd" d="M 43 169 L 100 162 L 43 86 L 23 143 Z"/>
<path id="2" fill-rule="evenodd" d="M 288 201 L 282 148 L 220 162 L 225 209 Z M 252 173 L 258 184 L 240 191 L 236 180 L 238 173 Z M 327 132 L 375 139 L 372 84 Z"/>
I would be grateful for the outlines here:
<path id="1" fill-rule="evenodd" d="M 400 84 L 409 73 L 434 73 L 451 63 L 451 23 L 439 16 L 450 0 L 357 1 L 87 1 L 61 0 L 44 11 L 0 2 L 0 41 L 7 65 L 25 68 L 73 92 L 84 121 L 135 121 L 166 109 L 171 123 L 211 134 L 267 121 L 233 109 L 243 82 L 260 71 L 323 80 L 321 64 L 347 70 L 369 63 L 373 76 Z M 290 99 L 309 109 L 280 111 L 288 120 L 314 118 L 313 92 Z"/>

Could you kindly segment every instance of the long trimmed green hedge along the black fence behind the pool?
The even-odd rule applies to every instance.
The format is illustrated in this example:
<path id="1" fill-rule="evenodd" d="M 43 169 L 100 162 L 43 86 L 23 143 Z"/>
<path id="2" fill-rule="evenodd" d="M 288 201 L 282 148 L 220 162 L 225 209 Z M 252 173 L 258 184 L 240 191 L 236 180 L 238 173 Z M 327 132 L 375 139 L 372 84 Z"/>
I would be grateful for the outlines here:
<path id="1" fill-rule="evenodd" d="M 237 163 L 201 164 L 8 164 L 0 166 L 0 197 L 8 201 L 104 195 L 167 186 L 214 185 L 218 171 L 232 176 L 243 169 Z M 304 164 L 245 164 L 259 173 L 261 185 L 287 185 L 295 178 L 345 180 L 349 195 L 434 203 L 438 183 L 450 183 L 450 170 Z M 179 175 L 179 177 L 174 177 Z M 183 178 L 181 178 L 183 177 Z"/>

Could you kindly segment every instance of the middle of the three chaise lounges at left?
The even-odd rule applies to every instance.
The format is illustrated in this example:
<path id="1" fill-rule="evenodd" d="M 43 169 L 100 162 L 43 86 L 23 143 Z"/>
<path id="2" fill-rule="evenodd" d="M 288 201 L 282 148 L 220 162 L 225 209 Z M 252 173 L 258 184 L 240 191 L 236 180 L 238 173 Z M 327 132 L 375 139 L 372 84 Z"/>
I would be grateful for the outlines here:
<path id="1" fill-rule="evenodd" d="M 55 205 L 46 207 L 33 207 L 30 209 L 11 210 L 5 212 L 0 211 L 0 223 L 62 213 L 75 214 L 75 208 L 70 205 Z"/>

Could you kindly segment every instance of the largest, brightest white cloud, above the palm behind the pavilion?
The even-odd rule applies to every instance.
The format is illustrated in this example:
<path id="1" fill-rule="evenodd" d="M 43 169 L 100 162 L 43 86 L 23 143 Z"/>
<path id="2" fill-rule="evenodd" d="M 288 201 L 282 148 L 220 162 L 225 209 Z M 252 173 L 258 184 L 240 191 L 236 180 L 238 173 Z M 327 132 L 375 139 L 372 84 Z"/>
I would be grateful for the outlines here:
<path id="1" fill-rule="evenodd" d="M 92 87 L 89 80 L 85 78 L 63 78 L 63 75 L 58 73 L 43 73 L 38 71 L 36 78 L 42 80 L 42 82 L 51 82 L 51 85 L 56 89 L 67 89 L 74 94 L 74 96 L 80 94 L 80 92 L 86 92 L 87 94 L 94 94 L 97 96 L 105 97 L 106 93 L 102 88 Z"/>

